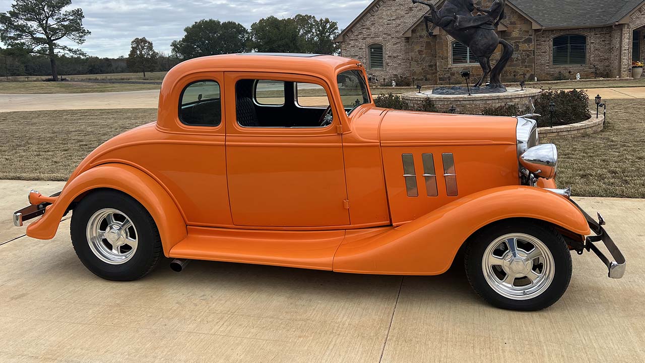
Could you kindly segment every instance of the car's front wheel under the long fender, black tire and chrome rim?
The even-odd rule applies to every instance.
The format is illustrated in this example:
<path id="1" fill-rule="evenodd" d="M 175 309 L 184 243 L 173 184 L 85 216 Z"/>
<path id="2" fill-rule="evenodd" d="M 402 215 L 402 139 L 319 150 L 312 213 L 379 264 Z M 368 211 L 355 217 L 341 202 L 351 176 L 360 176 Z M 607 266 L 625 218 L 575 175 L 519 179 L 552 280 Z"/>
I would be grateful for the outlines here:
<path id="1" fill-rule="evenodd" d="M 499 239 L 506 236 L 520 236 L 517 238 L 516 242 L 513 242 L 513 244 L 515 244 L 516 247 L 520 244 L 525 244 L 530 247 L 531 242 L 522 241 L 522 238 L 524 238 L 522 235 L 536 238 L 538 242 L 543 244 L 541 249 L 544 249 L 546 246 L 548 253 L 551 254 L 552 260 L 548 260 L 549 257 L 547 253 L 544 253 L 544 256 L 537 258 L 537 260 L 530 260 L 530 256 L 525 256 L 526 258 L 524 258 L 524 261 L 530 262 L 526 262 L 524 268 L 526 268 L 527 265 L 533 267 L 528 267 L 524 271 L 529 271 L 529 273 L 531 273 L 531 269 L 534 268 L 537 270 L 537 273 L 539 273 L 539 269 L 542 267 L 542 276 L 546 277 L 542 277 L 542 280 L 540 280 L 541 277 L 535 277 L 539 276 L 536 274 L 531 275 L 535 277 L 535 280 L 531 280 L 528 277 L 526 277 L 528 280 L 522 280 L 522 278 L 519 278 L 519 285 L 525 283 L 525 287 L 515 287 L 514 284 L 517 284 L 517 280 L 513 280 L 513 282 L 510 283 L 511 287 L 509 288 L 502 284 L 502 282 L 505 282 L 505 276 L 510 276 L 510 278 L 513 279 L 515 271 L 517 271 L 519 275 L 522 275 L 522 272 L 519 272 L 521 261 L 518 260 L 518 262 L 516 262 L 515 265 L 512 265 L 512 267 L 510 263 L 504 262 L 504 264 L 508 265 L 504 265 L 504 267 L 502 267 L 502 265 L 484 262 L 484 254 L 487 256 L 492 254 L 493 258 L 500 258 L 500 256 L 497 255 L 501 254 L 502 257 L 506 256 L 506 259 L 510 258 L 511 262 L 515 261 L 513 260 L 512 249 L 508 249 L 510 245 L 508 245 L 506 240 L 503 239 L 500 244 Z M 511 241 L 511 238 L 512 237 L 510 237 L 508 241 Z M 495 245 L 499 246 L 497 249 L 493 246 L 494 242 Z M 535 248 L 537 248 L 537 242 L 534 243 Z M 524 249 L 529 249 L 529 247 L 525 247 Z M 508 251 L 505 251 L 505 249 L 508 249 Z M 524 253 L 523 249 L 516 250 L 519 251 L 519 254 Z M 518 259 L 521 259 L 519 254 L 516 254 L 515 256 Z M 502 258 L 502 260 L 504 259 Z M 568 245 L 564 242 L 562 235 L 558 233 L 553 226 L 539 221 L 506 220 L 484 227 L 484 229 L 481 229 L 477 234 L 470 238 L 468 245 L 466 246 L 464 262 L 468 281 L 475 292 L 486 300 L 486 302 L 501 309 L 537 311 L 550 307 L 557 302 L 562 295 L 564 295 L 564 292 L 569 286 L 569 282 L 571 280 L 571 253 Z M 497 260 L 494 260 L 493 262 L 497 262 Z M 553 265 L 552 273 L 551 267 L 545 267 L 547 265 L 550 266 L 551 264 Z M 506 273 L 507 269 L 509 271 L 508 273 Z M 491 273 L 499 273 L 500 276 L 494 276 L 489 273 L 489 271 Z M 551 278 L 548 278 L 548 276 L 551 276 Z M 498 280 L 493 280 L 495 277 L 497 277 Z M 550 283 L 546 283 L 548 280 L 550 280 Z M 541 281 L 542 284 L 538 285 L 537 281 Z M 512 295 L 519 295 L 521 293 L 515 292 L 513 289 L 528 290 L 531 284 L 536 285 L 533 287 L 535 291 L 529 294 L 528 297 Z M 542 290 L 538 289 L 540 286 Z M 504 291 L 504 289 L 509 291 Z M 502 292 L 499 292 L 500 290 Z M 506 294 L 506 296 L 504 294 Z"/>

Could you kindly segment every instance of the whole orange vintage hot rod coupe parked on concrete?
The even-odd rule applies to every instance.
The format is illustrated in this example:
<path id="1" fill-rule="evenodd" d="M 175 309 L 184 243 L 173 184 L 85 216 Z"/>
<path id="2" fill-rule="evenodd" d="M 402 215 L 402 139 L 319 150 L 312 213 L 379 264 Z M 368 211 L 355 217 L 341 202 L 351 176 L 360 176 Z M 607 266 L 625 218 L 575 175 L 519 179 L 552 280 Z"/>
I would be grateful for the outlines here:
<path id="1" fill-rule="evenodd" d="M 353 59 L 231 54 L 170 70 L 156 123 L 97 147 L 62 192 L 30 192 L 14 222 L 42 215 L 26 233 L 47 240 L 73 210 L 77 255 L 110 280 L 162 254 L 180 271 L 195 259 L 439 275 L 463 248 L 482 298 L 536 310 L 568 287 L 571 251 L 594 251 L 611 278 L 625 270 L 602 217 L 555 189 L 556 166 L 532 119 L 381 109 Z"/>

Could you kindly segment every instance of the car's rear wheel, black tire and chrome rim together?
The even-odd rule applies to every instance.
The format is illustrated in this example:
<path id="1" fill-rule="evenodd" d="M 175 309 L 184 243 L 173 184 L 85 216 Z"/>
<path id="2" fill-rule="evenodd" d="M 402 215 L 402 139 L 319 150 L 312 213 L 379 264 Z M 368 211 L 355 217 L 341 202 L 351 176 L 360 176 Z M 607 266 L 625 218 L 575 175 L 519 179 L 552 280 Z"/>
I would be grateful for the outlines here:
<path id="1" fill-rule="evenodd" d="M 97 222 L 97 218 L 105 213 L 107 216 L 111 213 L 110 211 L 119 213 L 112 213 L 111 217 L 104 217 L 103 220 Z M 125 228 L 119 229 L 118 218 L 123 220 L 121 223 L 130 220 L 133 227 L 126 227 L 125 224 L 122 224 Z M 116 222 L 110 224 L 109 221 Z M 108 227 L 100 227 L 101 223 L 108 225 Z M 107 238 L 88 238 L 94 230 L 92 225 L 97 225 L 96 229 L 99 230 L 99 233 L 101 233 L 101 228 L 110 231 L 112 233 L 110 238 L 116 240 L 115 244 L 124 242 L 123 245 L 117 247 L 117 253 L 112 251 L 113 253 L 110 254 L 108 250 L 114 250 L 114 245 L 110 244 Z M 110 225 L 115 227 L 110 228 Z M 118 191 L 97 191 L 85 196 L 74 208 L 70 234 L 74 251 L 83 265 L 94 275 L 106 280 L 132 281 L 142 278 L 154 269 L 163 254 L 159 230 L 152 216 L 139 202 Z M 106 234 L 109 233 L 103 233 L 101 236 Z M 132 238 L 132 242 L 124 238 Z M 91 241 L 98 242 L 93 244 Z M 128 244 L 135 244 L 136 247 Z M 130 254 L 128 254 L 128 249 Z M 120 258 L 121 251 L 124 251 L 122 260 L 116 260 Z"/>

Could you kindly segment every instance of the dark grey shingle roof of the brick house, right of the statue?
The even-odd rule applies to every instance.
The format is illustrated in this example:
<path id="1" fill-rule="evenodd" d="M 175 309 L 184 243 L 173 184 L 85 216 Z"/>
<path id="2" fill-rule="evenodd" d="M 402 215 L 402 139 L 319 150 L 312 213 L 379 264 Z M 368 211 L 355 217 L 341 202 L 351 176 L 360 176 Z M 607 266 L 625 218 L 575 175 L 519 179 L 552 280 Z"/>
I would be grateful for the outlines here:
<path id="1" fill-rule="evenodd" d="M 617 23 L 643 0 L 509 0 L 544 28 L 574 28 Z"/>

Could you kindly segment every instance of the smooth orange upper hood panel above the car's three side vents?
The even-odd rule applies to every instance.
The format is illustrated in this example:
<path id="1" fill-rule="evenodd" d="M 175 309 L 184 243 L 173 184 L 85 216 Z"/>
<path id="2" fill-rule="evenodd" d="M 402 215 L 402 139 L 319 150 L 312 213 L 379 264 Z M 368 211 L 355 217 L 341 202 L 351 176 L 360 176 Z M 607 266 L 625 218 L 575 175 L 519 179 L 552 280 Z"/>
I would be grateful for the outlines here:
<path id="1" fill-rule="evenodd" d="M 517 118 L 390 110 L 381 122 L 381 145 L 515 145 Z"/>

